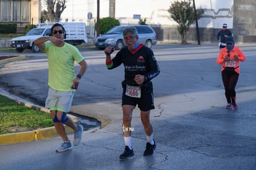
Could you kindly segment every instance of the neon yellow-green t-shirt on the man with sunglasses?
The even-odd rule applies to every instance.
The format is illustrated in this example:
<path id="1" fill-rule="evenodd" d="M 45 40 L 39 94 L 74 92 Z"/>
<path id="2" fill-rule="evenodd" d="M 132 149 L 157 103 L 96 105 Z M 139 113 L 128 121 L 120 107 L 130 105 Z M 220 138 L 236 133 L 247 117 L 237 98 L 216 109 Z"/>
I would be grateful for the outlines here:
<path id="1" fill-rule="evenodd" d="M 74 91 L 71 89 L 75 79 L 74 61 L 83 61 L 83 56 L 75 46 L 64 43 L 58 47 L 51 42 L 45 43 L 48 57 L 48 85 L 54 90 Z"/>

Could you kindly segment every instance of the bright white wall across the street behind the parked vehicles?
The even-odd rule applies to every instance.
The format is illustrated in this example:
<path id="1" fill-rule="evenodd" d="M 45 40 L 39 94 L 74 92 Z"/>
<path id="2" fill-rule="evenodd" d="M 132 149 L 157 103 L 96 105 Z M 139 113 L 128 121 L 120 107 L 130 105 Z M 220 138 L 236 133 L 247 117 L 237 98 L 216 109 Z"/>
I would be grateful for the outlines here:
<path id="1" fill-rule="evenodd" d="M 175 0 L 116 0 L 116 18 L 121 23 L 137 23 L 132 19 L 134 14 L 140 14 L 141 19 L 147 18 L 148 24 L 177 25 L 171 20 L 167 11 Z M 191 1 L 192 2 L 192 1 Z M 222 28 L 223 23 L 233 28 L 233 0 L 196 0 L 195 5 L 205 10 L 204 17 L 198 20 L 199 27 Z M 62 22 L 87 22 L 88 12 L 96 19 L 97 0 L 67 0 L 67 8 L 61 15 Z M 109 0 L 100 0 L 100 18 L 109 16 Z"/>

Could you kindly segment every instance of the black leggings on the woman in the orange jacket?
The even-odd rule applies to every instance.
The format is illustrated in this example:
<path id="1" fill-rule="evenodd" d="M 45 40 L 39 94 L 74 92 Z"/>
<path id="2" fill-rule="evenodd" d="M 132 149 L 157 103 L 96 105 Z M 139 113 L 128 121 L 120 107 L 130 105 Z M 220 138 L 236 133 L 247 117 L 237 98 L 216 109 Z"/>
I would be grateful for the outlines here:
<path id="1" fill-rule="evenodd" d="M 236 83 L 239 77 L 239 74 L 235 71 L 226 71 L 221 72 L 222 81 L 225 88 L 225 96 L 228 103 L 236 103 Z"/>

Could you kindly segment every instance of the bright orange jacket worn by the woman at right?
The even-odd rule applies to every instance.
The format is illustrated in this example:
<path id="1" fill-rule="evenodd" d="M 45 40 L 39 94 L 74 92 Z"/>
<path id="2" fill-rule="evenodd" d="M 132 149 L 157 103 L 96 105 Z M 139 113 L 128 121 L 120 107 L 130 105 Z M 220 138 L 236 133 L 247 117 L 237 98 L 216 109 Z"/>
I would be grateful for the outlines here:
<path id="1" fill-rule="evenodd" d="M 239 68 L 239 61 L 241 62 L 244 62 L 245 61 L 245 56 L 244 56 L 244 53 L 242 52 L 242 50 L 240 48 L 238 48 L 237 46 L 234 46 L 233 49 L 231 49 L 229 51 L 229 61 L 234 61 L 234 62 L 231 62 L 234 64 L 234 66 L 231 66 L 231 67 L 234 67 L 236 68 L 235 71 L 240 74 L 240 68 Z M 224 70 L 224 67 L 226 67 L 226 64 L 228 64 L 228 62 L 225 62 L 224 61 L 224 57 L 226 57 L 228 55 L 228 49 L 226 48 L 222 48 L 221 51 L 220 51 L 220 54 L 218 56 L 218 59 L 217 59 L 217 64 L 222 64 L 223 66 L 221 67 L 221 71 Z M 236 58 L 234 56 L 238 56 L 239 60 L 236 60 Z"/>

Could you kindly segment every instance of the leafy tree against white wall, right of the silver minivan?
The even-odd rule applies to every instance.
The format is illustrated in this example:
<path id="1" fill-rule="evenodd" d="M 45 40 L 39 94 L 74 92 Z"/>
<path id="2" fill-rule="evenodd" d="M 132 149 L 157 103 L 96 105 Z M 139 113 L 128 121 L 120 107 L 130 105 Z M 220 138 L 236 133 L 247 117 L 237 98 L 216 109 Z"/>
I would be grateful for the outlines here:
<path id="1" fill-rule="evenodd" d="M 192 23 L 195 22 L 195 11 L 190 2 L 187 1 L 174 1 L 168 9 L 171 14 L 171 18 L 178 23 L 177 29 L 181 35 L 182 45 L 186 45 L 186 33 Z M 197 9 L 197 19 L 200 19 L 203 15 L 203 9 Z"/>

